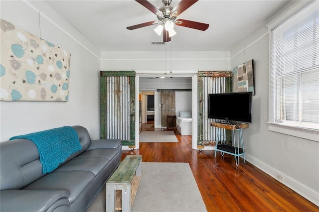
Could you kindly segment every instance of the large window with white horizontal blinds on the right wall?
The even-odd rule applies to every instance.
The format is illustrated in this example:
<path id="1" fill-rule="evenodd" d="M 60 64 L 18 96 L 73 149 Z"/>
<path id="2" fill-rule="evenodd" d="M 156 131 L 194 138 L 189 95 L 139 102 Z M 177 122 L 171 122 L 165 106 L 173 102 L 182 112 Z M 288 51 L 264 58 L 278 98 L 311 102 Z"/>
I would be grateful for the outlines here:
<path id="1" fill-rule="evenodd" d="M 269 122 L 319 130 L 319 4 L 272 31 Z"/>

